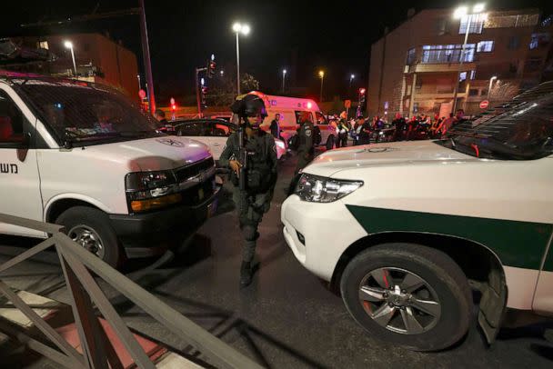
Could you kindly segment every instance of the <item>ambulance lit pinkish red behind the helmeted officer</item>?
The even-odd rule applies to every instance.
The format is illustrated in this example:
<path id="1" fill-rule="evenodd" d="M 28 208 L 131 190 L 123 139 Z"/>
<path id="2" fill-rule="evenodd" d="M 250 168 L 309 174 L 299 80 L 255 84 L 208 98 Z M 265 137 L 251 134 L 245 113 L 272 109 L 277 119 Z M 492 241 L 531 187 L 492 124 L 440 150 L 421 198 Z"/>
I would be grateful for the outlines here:
<path id="1" fill-rule="evenodd" d="M 311 122 L 320 132 L 320 135 L 316 136 L 316 145 L 325 145 L 328 150 L 334 147 L 337 137 L 336 126 L 328 123 L 315 101 L 298 97 L 265 95 L 258 91 L 252 91 L 249 94 L 259 96 L 265 103 L 268 116 L 261 125 L 262 129 L 269 131 L 271 121 L 279 114 L 281 135 L 288 142 L 293 135 L 297 134 L 299 114 L 308 112 Z"/>

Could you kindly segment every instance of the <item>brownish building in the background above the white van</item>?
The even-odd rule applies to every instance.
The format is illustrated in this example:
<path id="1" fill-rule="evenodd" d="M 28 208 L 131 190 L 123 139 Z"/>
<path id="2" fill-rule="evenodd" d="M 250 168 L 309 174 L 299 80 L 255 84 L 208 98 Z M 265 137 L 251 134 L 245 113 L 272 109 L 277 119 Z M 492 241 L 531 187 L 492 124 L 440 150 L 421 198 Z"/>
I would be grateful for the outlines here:
<path id="1" fill-rule="evenodd" d="M 72 34 L 14 37 L 12 40 L 27 47 L 45 48 L 55 55 L 51 62 L 3 65 L 19 72 L 55 76 L 73 76 L 71 50 L 73 44 L 77 77 L 89 82 L 111 85 L 133 99 L 138 99 L 138 64 L 136 55 L 106 35 Z"/>

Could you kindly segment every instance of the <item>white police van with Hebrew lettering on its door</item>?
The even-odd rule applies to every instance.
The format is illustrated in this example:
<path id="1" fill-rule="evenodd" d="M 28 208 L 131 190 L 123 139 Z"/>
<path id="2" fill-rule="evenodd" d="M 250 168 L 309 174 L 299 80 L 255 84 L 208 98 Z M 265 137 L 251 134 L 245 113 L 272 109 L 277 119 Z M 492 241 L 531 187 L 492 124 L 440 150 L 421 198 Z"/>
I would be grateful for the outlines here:
<path id="1" fill-rule="evenodd" d="M 215 211 L 206 145 L 104 86 L 0 74 L 0 213 L 65 225 L 108 264 L 163 252 Z M 0 234 L 46 234 L 0 223 Z"/>

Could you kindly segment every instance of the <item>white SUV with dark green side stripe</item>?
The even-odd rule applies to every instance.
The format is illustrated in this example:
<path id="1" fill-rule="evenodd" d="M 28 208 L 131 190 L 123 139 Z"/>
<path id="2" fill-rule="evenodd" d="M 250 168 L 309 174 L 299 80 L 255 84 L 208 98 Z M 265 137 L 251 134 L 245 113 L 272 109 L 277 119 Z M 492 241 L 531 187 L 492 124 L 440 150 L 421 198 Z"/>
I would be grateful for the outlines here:
<path id="1" fill-rule="evenodd" d="M 282 206 L 297 260 L 417 350 L 468 332 L 471 287 L 490 343 L 506 308 L 553 314 L 553 82 L 452 132 L 320 155 Z"/>

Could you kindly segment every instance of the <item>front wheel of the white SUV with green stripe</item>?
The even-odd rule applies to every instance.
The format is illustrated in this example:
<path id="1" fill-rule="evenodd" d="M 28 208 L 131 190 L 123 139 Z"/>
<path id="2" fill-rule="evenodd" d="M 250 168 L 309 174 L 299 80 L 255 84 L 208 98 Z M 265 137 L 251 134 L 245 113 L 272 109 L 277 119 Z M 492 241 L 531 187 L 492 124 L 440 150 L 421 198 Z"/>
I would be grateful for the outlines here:
<path id="1" fill-rule="evenodd" d="M 342 274 L 347 310 L 370 334 L 417 351 L 457 343 L 468 332 L 472 295 L 459 266 L 419 244 L 381 244 Z"/>

